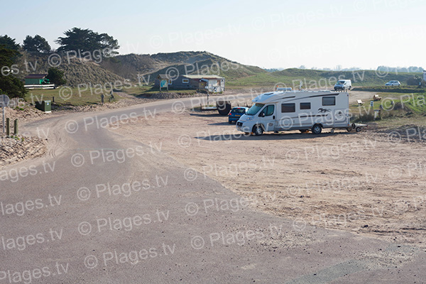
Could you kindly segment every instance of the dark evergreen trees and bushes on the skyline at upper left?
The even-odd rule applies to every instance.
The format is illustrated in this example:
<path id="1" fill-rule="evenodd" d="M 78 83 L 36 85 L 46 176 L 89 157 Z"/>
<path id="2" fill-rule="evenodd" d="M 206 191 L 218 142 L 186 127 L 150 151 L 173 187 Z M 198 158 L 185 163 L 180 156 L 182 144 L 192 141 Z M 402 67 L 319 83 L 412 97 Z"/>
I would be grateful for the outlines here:
<path id="1" fill-rule="evenodd" d="M 84 52 L 92 53 L 94 50 L 102 50 L 102 56 L 111 56 L 118 54 L 118 40 L 114 39 L 107 33 L 97 33 L 88 28 L 72 28 L 64 32 L 64 37 L 55 40 L 60 47 L 57 50 L 52 50 L 48 40 L 41 35 L 27 35 L 23 40 L 23 44 L 16 43 L 14 38 L 9 35 L 0 35 L 0 92 L 8 94 L 9 97 L 25 97 L 26 89 L 23 87 L 23 82 L 19 80 L 12 72 L 12 65 L 16 65 L 22 51 L 30 53 L 53 53 L 76 51 L 77 54 Z M 78 52 L 80 51 L 80 53 Z M 55 84 L 65 84 L 62 79 L 63 72 L 57 68 L 50 68 L 48 71 L 48 79 Z"/>

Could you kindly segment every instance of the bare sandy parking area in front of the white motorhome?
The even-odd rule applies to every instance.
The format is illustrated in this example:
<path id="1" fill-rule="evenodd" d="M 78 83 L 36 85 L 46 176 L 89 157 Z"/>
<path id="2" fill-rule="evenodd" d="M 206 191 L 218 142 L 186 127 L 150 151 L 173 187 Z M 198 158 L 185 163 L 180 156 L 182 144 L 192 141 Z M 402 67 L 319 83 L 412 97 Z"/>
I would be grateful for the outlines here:
<path id="1" fill-rule="evenodd" d="M 298 229 L 313 224 L 426 245 L 424 143 L 327 129 L 319 136 L 244 136 L 225 116 L 194 111 L 125 121 L 115 131 L 161 144 L 198 176 L 221 182 L 258 210 L 294 219 Z"/>

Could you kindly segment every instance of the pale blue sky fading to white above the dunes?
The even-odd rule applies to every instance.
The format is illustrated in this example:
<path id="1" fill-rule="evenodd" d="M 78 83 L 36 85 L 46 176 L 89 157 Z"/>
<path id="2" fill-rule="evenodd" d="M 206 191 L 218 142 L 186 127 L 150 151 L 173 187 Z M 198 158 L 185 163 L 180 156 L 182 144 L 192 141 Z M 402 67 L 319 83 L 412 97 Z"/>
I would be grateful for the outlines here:
<path id="1" fill-rule="evenodd" d="M 18 1 L 0 34 L 22 43 L 73 27 L 108 33 L 121 54 L 206 50 L 260 67 L 426 67 L 426 1 Z M 9 19 L 9 20 L 8 20 Z"/>

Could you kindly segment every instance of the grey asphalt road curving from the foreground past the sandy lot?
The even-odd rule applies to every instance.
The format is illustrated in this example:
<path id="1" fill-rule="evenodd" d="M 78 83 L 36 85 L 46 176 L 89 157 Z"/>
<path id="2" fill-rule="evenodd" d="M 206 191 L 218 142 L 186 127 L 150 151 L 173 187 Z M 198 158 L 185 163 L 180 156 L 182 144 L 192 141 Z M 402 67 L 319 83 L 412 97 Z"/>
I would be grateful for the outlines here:
<path id="1" fill-rule="evenodd" d="M 182 104 L 23 126 L 49 151 L 0 176 L 0 283 L 425 282 L 422 249 L 256 212 L 160 145 L 106 127 L 126 116 L 155 123 Z"/>

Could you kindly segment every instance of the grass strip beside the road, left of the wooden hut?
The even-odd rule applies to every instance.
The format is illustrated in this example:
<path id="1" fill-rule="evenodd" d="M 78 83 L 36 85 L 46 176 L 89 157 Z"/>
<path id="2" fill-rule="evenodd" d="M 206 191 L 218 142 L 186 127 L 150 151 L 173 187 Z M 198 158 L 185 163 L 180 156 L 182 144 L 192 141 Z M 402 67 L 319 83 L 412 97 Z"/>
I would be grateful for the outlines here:
<path id="1" fill-rule="evenodd" d="M 50 100 L 55 97 L 55 104 L 59 106 L 84 106 L 89 104 L 100 104 L 101 94 L 99 89 L 77 89 L 63 88 L 58 89 L 29 89 L 26 94 L 26 101 L 35 104 L 36 101 Z M 109 92 L 104 92 L 109 94 Z M 114 94 L 116 101 L 121 99 L 118 94 Z M 104 102 L 108 103 L 109 95 L 105 95 Z"/>

